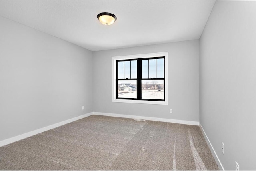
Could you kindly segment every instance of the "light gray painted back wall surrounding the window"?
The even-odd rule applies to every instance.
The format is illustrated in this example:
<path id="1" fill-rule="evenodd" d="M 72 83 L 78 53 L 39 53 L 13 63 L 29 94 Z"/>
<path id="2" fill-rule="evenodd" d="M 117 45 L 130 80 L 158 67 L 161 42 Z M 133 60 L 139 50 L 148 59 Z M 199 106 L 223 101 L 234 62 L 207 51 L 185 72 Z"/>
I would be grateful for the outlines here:
<path id="1" fill-rule="evenodd" d="M 112 56 L 156 52 L 169 52 L 168 105 L 112 102 Z M 199 40 L 93 52 L 93 77 L 95 112 L 199 121 Z"/>

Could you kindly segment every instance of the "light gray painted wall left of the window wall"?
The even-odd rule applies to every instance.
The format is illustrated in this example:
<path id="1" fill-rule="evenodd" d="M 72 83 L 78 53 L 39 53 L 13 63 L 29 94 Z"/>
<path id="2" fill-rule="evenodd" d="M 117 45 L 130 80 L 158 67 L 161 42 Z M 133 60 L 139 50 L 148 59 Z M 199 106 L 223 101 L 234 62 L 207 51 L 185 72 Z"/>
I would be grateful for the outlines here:
<path id="1" fill-rule="evenodd" d="M 93 111 L 91 51 L 3 17 L 0 49 L 0 141 Z"/>

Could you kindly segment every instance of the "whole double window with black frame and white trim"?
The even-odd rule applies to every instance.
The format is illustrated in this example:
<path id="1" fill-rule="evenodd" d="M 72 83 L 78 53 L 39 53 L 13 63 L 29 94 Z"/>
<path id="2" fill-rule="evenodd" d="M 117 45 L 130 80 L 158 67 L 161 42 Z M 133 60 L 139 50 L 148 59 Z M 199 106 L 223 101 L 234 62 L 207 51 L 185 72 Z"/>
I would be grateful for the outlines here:
<path id="1" fill-rule="evenodd" d="M 112 57 L 113 102 L 167 105 L 168 52 Z"/>

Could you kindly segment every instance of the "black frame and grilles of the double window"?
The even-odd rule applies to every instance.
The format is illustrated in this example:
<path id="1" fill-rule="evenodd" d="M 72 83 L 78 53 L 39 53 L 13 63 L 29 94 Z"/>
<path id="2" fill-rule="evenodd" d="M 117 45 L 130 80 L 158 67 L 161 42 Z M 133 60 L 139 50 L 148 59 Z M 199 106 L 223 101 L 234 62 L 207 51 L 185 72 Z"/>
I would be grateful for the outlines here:
<path id="1" fill-rule="evenodd" d="M 164 77 L 163 78 L 157 78 L 157 60 L 156 60 L 156 78 L 142 78 L 142 60 L 152 60 L 152 59 L 164 59 Z M 123 78 L 123 79 L 119 79 L 118 78 L 118 62 L 121 61 L 137 61 L 137 78 Z M 132 59 L 124 59 L 124 60 L 116 60 L 116 99 L 124 99 L 124 100 L 141 100 L 141 101 L 165 101 L 166 97 L 165 97 L 165 75 L 166 75 L 166 68 L 165 68 L 165 56 L 159 56 L 159 57 L 149 57 L 149 58 L 132 58 Z M 148 64 L 149 66 L 149 64 Z M 130 65 L 131 67 L 131 65 Z M 131 69 L 130 69 L 131 72 Z M 149 73 L 149 70 L 148 70 Z M 125 75 L 125 73 L 124 73 Z M 131 76 L 131 74 L 130 74 Z M 118 81 L 127 81 L 127 80 L 136 80 L 137 81 L 137 98 L 122 98 L 122 97 L 118 97 Z M 142 80 L 163 80 L 164 82 L 164 99 L 142 99 Z"/>

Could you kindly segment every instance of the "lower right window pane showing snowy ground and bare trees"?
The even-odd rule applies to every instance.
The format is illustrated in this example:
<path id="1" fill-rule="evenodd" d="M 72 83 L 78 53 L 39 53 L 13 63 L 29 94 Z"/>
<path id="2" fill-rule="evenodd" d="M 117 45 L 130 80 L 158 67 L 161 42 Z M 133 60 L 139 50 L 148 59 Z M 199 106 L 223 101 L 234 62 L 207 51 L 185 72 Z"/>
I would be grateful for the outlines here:
<path id="1" fill-rule="evenodd" d="M 142 80 L 142 99 L 164 99 L 164 80 Z"/>

